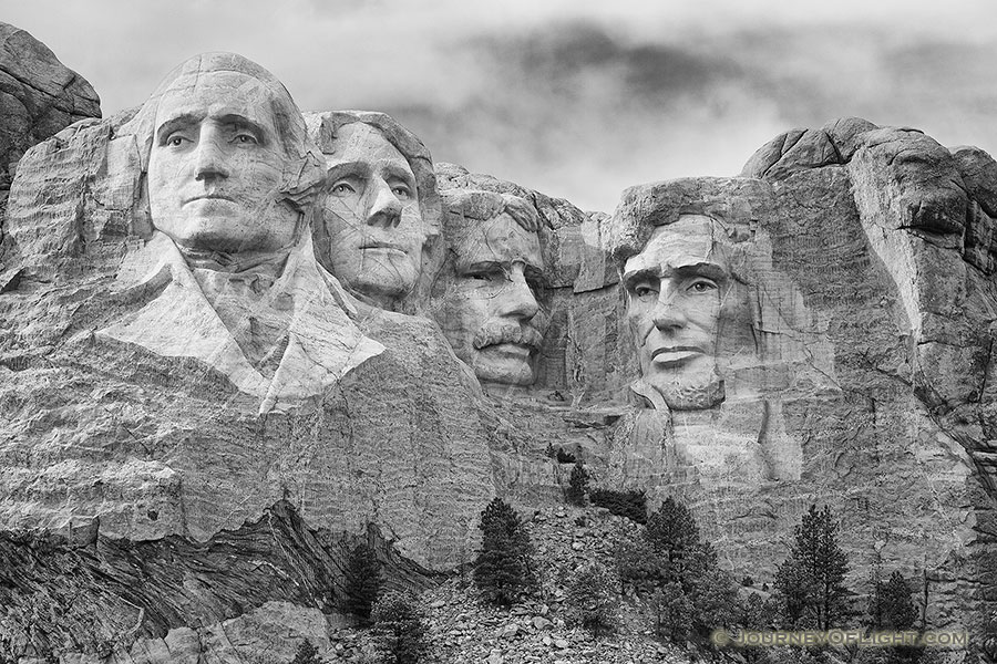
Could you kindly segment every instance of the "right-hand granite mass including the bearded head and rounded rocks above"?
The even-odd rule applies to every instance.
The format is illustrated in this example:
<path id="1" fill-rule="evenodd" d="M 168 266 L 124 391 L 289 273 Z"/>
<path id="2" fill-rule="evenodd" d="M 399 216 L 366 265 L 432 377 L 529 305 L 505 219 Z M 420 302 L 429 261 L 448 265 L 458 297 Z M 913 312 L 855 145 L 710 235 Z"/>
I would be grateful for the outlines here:
<path id="1" fill-rule="evenodd" d="M 739 178 L 625 191 L 602 240 L 638 398 L 609 484 L 682 496 L 723 557 L 768 574 L 763 542 L 830 505 L 856 584 L 901 569 L 929 623 L 983 633 L 990 163 L 846 120 L 778 137 Z"/>

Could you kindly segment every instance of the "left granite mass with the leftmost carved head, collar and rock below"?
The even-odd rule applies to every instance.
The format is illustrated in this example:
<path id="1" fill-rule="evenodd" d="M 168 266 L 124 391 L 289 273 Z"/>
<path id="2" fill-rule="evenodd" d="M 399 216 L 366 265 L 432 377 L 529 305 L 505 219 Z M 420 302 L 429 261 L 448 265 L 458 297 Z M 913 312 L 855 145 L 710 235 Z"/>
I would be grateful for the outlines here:
<path id="1" fill-rule="evenodd" d="M 284 86 L 232 54 L 21 159 L 0 539 L 6 560 L 62 562 L 4 585 L 4 653 L 210 653 L 210 625 L 243 613 L 275 634 L 336 613 L 358 540 L 399 585 L 472 556 L 492 415 L 433 322 L 354 299 L 317 259 L 326 178 Z"/>

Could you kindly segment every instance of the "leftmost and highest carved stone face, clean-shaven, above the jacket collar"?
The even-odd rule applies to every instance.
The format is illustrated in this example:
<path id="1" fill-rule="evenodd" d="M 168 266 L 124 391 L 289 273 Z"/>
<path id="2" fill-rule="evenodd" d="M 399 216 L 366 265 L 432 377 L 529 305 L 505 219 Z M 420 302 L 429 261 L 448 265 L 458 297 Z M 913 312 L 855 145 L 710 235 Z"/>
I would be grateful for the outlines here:
<path id="1" fill-rule="evenodd" d="M 298 212 L 280 200 L 288 156 L 273 93 L 232 71 L 177 79 L 160 100 L 148 159 L 153 225 L 184 248 L 274 251 Z"/>

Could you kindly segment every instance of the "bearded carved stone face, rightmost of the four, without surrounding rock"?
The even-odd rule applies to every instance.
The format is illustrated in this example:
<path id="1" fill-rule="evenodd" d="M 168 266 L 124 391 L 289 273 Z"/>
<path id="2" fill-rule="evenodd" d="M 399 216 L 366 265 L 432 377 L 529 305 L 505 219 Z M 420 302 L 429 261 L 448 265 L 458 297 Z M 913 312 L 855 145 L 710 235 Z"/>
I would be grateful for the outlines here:
<path id="1" fill-rule="evenodd" d="M 627 320 L 644 381 L 672 409 L 723 400 L 717 372 L 720 311 L 729 266 L 709 217 L 682 215 L 655 229 L 624 266 Z"/>

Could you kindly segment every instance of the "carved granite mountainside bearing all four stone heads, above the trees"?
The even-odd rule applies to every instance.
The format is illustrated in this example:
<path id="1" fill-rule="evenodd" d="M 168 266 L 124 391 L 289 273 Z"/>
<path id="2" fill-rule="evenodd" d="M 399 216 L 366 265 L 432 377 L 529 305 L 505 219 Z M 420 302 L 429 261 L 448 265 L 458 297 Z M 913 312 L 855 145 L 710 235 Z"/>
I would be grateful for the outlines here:
<path id="1" fill-rule="evenodd" d="M 29 149 L 8 212 L 0 652 L 325 650 L 352 546 L 432 584 L 496 494 L 562 500 L 558 450 L 683 499 L 738 577 L 819 502 L 854 587 L 900 570 L 974 636 L 997 608 L 979 149 L 845 118 L 585 212 L 208 54 Z"/>

